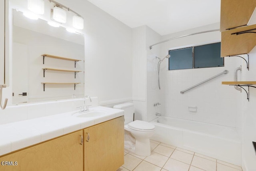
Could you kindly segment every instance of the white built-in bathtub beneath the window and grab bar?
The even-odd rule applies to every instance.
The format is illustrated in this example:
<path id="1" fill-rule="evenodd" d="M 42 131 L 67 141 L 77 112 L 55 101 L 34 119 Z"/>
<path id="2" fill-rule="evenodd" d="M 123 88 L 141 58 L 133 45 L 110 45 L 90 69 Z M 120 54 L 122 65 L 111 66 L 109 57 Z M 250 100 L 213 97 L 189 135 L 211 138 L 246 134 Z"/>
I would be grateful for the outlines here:
<path id="1" fill-rule="evenodd" d="M 241 141 L 234 127 L 165 116 L 150 123 L 156 126 L 155 141 L 241 165 Z"/>

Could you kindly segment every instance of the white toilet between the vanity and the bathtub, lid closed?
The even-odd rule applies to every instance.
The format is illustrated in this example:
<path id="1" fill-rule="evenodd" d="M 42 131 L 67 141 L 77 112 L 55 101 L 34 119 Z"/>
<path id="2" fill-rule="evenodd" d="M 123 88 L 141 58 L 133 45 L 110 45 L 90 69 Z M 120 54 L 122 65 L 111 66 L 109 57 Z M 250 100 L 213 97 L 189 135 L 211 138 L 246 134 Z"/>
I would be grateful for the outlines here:
<path id="1" fill-rule="evenodd" d="M 133 103 L 114 105 L 113 108 L 124 110 L 124 148 L 136 155 L 149 156 L 150 137 L 154 134 L 155 125 L 146 121 L 133 121 Z"/>

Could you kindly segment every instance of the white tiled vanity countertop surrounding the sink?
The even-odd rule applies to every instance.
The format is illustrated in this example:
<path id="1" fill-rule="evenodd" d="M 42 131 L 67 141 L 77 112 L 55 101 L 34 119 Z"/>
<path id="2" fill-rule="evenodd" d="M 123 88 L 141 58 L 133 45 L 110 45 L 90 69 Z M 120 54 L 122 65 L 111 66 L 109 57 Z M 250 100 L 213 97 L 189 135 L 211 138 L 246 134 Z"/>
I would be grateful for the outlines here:
<path id="1" fill-rule="evenodd" d="M 71 133 L 98 123 L 124 115 L 119 109 L 92 107 L 90 110 L 106 111 L 98 117 L 75 117 L 72 111 L 46 117 L 0 125 L 0 155 L 34 145 L 67 133 Z"/>

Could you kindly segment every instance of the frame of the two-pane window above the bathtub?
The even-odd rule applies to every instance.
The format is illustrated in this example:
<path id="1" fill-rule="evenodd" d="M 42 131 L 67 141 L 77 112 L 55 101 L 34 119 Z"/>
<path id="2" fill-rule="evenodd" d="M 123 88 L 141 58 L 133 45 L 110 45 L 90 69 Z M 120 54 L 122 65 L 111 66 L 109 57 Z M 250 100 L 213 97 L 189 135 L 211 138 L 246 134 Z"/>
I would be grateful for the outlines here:
<path id="1" fill-rule="evenodd" d="M 191 70 L 191 69 L 203 69 L 203 68 L 194 68 L 194 47 L 196 46 L 204 46 L 204 45 L 207 45 L 207 44 L 214 44 L 214 43 L 221 43 L 220 40 L 216 40 L 216 41 L 212 41 L 212 42 L 204 42 L 204 43 L 201 43 L 201 44 L 192 44 L 192 45 L 187 45 L 187 46 L 179 46 L 179 47 L 175 47 L 175 48 L 169 48 L 168 49 L 168 54 L 169 54 L 169 51 L 170 50 L 178 50 L 178 49 L 184 49 L 184 48 L 192 48 L 192 68 L 187 68 L 187 69 L 176 69 L 176 70 Z M 171 58 L 171 57 L 170 57 Z M 221 57 L 220 57 L 221 58 Z M 223 66 L 219 66 L 219 67 L 224 67 L 225 66 L 225 59 L 223 59 Z M 176 71 L 176 70 L 169 70 L 169 59 L 167 60 L 167 71 Z M 216 67 L 204 67 L 204 68 L 218 68 L 218 66 Z"/>

